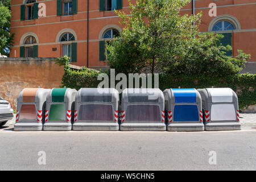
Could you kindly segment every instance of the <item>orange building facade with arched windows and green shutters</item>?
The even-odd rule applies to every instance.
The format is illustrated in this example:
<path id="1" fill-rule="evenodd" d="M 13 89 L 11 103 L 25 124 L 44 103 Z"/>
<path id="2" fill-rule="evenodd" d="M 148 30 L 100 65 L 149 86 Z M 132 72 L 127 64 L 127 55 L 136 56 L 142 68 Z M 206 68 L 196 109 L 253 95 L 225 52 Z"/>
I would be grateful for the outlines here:
<path id="1" fill-rule="evenodd" d="M 135 2 L 135 1 L 132 1 Z M 210 16 L 210 3 L 216 15 Z M 129 14 L 127 0 L 11 0 L 11 34 L 14 45 L 10 57 L 61 57 L 68 55 L 72 64 L 105 68 L 105 41 L 122 31 L 113 11 Z M 45 11 L 43 11 L 45 10 Z M 230 56 L 237 49 L 251 54 L 256 61 L 256 0 L 195 0 L 180 14 L 202 11 L 200 32 L 225 35 L 231 44 Z M 212 11 L 211 11 L 212 12 Z M 44 14 L 45 13 L 45 14 Z"/>

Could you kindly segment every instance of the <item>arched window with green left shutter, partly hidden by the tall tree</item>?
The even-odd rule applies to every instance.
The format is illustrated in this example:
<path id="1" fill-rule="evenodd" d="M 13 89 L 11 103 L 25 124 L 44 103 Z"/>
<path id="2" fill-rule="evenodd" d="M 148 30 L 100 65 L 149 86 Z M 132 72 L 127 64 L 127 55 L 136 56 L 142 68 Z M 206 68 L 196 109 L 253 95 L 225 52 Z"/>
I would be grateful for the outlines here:
<path id="1" fill-rule="evenodd" d="M 100 60 L 101 61 L 106 60 L 106 56 L 105 56 L 106 44 L 111 44 L 111 41 L 113 40 L 113 38 L 116 38 L 118 36 L 119 36 L 119 31 L 114 28 L 111 28 L 104 32 L 104 34 L 102 35 L 102 39 L 105 39 L 105 40 L 100 41 Z M 107 53 L 109 53 L 109 51 L 107 51 Z"/>

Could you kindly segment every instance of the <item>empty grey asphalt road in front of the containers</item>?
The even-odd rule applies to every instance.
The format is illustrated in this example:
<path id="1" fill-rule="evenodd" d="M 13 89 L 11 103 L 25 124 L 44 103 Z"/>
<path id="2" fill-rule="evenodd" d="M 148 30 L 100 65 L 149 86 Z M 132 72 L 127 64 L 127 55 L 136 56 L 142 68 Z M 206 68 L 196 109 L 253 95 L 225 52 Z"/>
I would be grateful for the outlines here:
<path id="1" fill-rule="evenodd" d="M 0 143 L 0 170 L 256 169 L 256 129 L 187 133 L 2 130 Z M 46 165 L 39 165 L 39 151 L 45 152 Z M 209 164 L 210 151 L 216 152 L 217 164 Z"/>

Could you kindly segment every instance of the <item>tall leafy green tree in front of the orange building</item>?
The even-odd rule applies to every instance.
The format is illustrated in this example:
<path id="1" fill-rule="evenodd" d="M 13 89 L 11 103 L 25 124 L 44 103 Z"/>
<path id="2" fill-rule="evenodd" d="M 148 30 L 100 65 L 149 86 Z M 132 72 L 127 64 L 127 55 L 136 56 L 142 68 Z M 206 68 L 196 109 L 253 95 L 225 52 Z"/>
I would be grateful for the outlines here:
<path id="1" fill-rule="evenodd" d="M 195 35 L 201 14 L 179 14 L 189 0 L 138 0 L 130 3 L 130 15 L 115 11 L 125 24 L 119 38 L 115 38 L 106 53 L 109 65 L 117 72 L 154 73 L 162 68 L 163 59 L 173 55 L 185 39 Z"/>

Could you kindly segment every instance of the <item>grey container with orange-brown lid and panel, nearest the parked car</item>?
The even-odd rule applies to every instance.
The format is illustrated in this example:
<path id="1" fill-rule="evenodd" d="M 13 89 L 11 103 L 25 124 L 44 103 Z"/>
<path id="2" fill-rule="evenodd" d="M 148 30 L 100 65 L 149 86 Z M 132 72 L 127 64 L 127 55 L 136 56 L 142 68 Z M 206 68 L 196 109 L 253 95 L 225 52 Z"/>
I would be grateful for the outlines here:
<path id="1" fill-rule="evenodd" d="M 46 98 L 51 89 L 25 88 L 19 93 L 15 131 L 43 129 Z"/>

